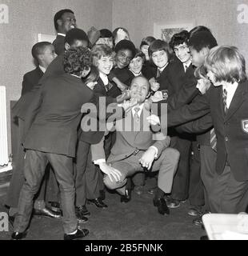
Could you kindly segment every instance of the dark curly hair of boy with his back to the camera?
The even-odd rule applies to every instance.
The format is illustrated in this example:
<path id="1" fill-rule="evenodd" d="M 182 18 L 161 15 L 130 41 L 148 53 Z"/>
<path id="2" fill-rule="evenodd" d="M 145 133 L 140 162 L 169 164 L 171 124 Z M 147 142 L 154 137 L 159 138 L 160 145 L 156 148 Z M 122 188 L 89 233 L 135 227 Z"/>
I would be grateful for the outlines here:
<path id="1" fill-rule="evenodd" d="M 72 47 L 65 51 L 63 63 L 66 73 L 80 75 L 82 70 L 90 69 L 92 54 L 86 47 Z"/>

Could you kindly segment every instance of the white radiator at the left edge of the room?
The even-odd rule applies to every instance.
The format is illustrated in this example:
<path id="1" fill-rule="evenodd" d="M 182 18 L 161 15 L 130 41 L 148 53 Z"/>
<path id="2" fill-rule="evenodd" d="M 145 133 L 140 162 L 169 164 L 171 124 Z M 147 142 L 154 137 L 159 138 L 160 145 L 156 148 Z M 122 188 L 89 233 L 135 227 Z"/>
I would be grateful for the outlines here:
<path id="1" fill-rule="evenodd" d="M 8 165 L 6 87 L 0 86 L 0 166 Z"/>

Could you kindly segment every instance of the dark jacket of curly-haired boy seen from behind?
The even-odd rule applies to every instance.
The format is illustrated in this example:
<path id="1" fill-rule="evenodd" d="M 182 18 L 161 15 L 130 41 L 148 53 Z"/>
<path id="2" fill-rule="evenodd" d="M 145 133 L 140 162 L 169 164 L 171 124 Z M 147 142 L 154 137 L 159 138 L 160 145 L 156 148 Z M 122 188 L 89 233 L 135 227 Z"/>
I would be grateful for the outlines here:
<path id="1" fill-rule="evenodd" d="M 74 157 L 81 108 L 93 98 L 80 78 L 62 74 L 47 79 L 26 114 L 24 148 Z"/>

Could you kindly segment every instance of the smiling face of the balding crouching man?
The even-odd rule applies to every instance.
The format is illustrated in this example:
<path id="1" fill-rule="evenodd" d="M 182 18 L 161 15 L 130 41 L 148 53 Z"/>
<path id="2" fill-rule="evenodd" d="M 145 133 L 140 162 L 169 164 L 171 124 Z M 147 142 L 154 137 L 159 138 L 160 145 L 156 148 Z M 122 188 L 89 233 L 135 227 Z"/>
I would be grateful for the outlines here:
<path id="1" fill-rule="evenodd" d="M 134 78 L 130 86 L 131 98 L 137 99 L 138 103 L 142 104 L 142 102 L 145 102 L 146 96 L 149 93 L 149 87 L 150 85 L 146 78 Z"/>

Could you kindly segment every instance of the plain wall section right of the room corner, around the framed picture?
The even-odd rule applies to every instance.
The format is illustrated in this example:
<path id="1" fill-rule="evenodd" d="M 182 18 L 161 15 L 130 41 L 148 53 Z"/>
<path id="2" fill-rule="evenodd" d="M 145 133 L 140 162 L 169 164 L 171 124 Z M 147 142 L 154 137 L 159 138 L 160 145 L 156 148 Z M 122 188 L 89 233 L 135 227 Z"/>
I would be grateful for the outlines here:
<path id="1" fill-rule="evenodd" d="M 247 23 L 238 23 L 238 5 L 246 4 Z M 194 20 L 210 27 L 218 44 L 238 46 L 248 61 L 247 0 L 114 0 L 113 28 L 124 26 L 136 46 L 153 35 L 154 22 L 173 23 Z"/>

